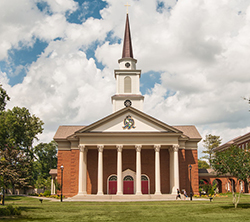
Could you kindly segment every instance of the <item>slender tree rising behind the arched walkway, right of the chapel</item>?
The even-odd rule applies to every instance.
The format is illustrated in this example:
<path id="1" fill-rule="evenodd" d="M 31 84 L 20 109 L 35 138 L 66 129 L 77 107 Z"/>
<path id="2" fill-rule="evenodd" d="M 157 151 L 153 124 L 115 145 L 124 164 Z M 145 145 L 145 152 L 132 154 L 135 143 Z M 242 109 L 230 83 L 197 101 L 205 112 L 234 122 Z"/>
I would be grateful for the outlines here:
<path id="1" fill-rule="evenodd" d="M 218 147 L 221 144 L 220 136 L 215 136 L 208 134 L 206 135 L 206 139 L 203 140 L 203 146 L 206 150 L 202 151 L 202 153 L 206 154 L 203 156 L 203 159 L 207 159 L 209 161 L 209 165 L 211 166 L 211 159 L 214 155 L 214 148 Z"/>

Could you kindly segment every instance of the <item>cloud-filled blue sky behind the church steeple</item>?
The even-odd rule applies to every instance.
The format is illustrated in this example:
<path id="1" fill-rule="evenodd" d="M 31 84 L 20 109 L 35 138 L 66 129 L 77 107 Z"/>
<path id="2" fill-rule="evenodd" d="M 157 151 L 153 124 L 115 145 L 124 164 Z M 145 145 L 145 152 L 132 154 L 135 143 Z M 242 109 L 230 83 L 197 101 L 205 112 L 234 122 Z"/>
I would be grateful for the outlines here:
<path id="1" fill-rule="evenodd" d="M 250 131 L 250 1 L 128 0 L 144 111 L 223 142 Z M 112 112 L 126 1 L 1 0 L 0 82 L 8 108 L 87 125 Z M 202 142 L 199 144 L 201 157 Z"/>

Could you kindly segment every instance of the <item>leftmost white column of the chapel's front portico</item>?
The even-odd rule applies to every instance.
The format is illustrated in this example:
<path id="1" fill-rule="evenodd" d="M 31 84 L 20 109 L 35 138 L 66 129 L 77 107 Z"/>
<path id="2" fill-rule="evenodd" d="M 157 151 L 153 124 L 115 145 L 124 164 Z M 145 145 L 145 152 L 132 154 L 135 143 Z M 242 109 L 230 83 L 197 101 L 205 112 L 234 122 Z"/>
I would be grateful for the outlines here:
<path id="1" fill-rule="evenodd" d="M 87 194 L 87 148 L 84 145 L 78 147 L 80 149 L 78 194 Z"/>

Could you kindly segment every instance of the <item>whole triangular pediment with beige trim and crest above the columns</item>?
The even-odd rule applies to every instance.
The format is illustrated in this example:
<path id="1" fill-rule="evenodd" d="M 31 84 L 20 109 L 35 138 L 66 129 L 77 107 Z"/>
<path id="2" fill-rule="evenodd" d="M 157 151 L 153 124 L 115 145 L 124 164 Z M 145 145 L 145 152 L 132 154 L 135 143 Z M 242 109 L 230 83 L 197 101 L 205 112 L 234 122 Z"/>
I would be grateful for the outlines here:
<path id="1" fill-rule="evenodd" d="M 178 129 L 169 126 L 133 107 L 121 109 L 87 127 L 79 130 L 84 132 L 169 132 L 181 133 Z"/>

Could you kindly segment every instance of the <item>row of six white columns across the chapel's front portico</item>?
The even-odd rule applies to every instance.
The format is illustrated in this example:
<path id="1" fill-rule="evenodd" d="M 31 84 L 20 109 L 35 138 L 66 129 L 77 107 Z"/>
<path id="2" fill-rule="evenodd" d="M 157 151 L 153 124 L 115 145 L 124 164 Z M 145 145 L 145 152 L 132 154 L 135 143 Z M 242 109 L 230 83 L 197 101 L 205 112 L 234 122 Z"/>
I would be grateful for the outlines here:
<path id="1" fill-rule="evenodd" d="M 110 145 L 108 145 L 110 147 Z M 116 195 L 123 195 L 123 174 L 122 174 L 122 151 L 126 149 L 124 145 L 116 145 L 117 150 L 117 192 Z M 148 145 L 146 145 L 147 149 Z M 170 185 L 171 194 L 176 194 L 177 188 L 179 188 L 179 170 L 178 170 L 178 145 L 174 144 L 172 147 L 167 148 L 170 155 L 173 155 L 173 161 L 170 165 L 170 172 L 173 174 L 173 182 Z M 135 153 L 136 153 L 136 180 L 135 180 L 135 195 L 142 195 L 141 190 L 141 152 L 143 152 L 143 145 L 134 145 Z M 95 148 L 92 148 L 95 149 Z M 98 178 L 97 178 L 97 195 L 103 195 L 103 153 L 105 152 L 104 145 L 96 145 L 96 149 L 98 150 Z M 161 145 L 156 144 L 152 145 L 152 149 L 155 152 L 155 195 L 161 195 L 161 174 L 160 174 L 160 149 Z M 87 152 L 88 149 L 85 145 L 79 145 L 80 150 L 80 158 L 79 158 L 79 191 L 78 194 L 87 194 Z M 177 166 L 177 169 L 174 167 Z M 171 173 L 170 173 L 171 174 Z M 108 191 L 107 191 L 108 194 Z"/>

